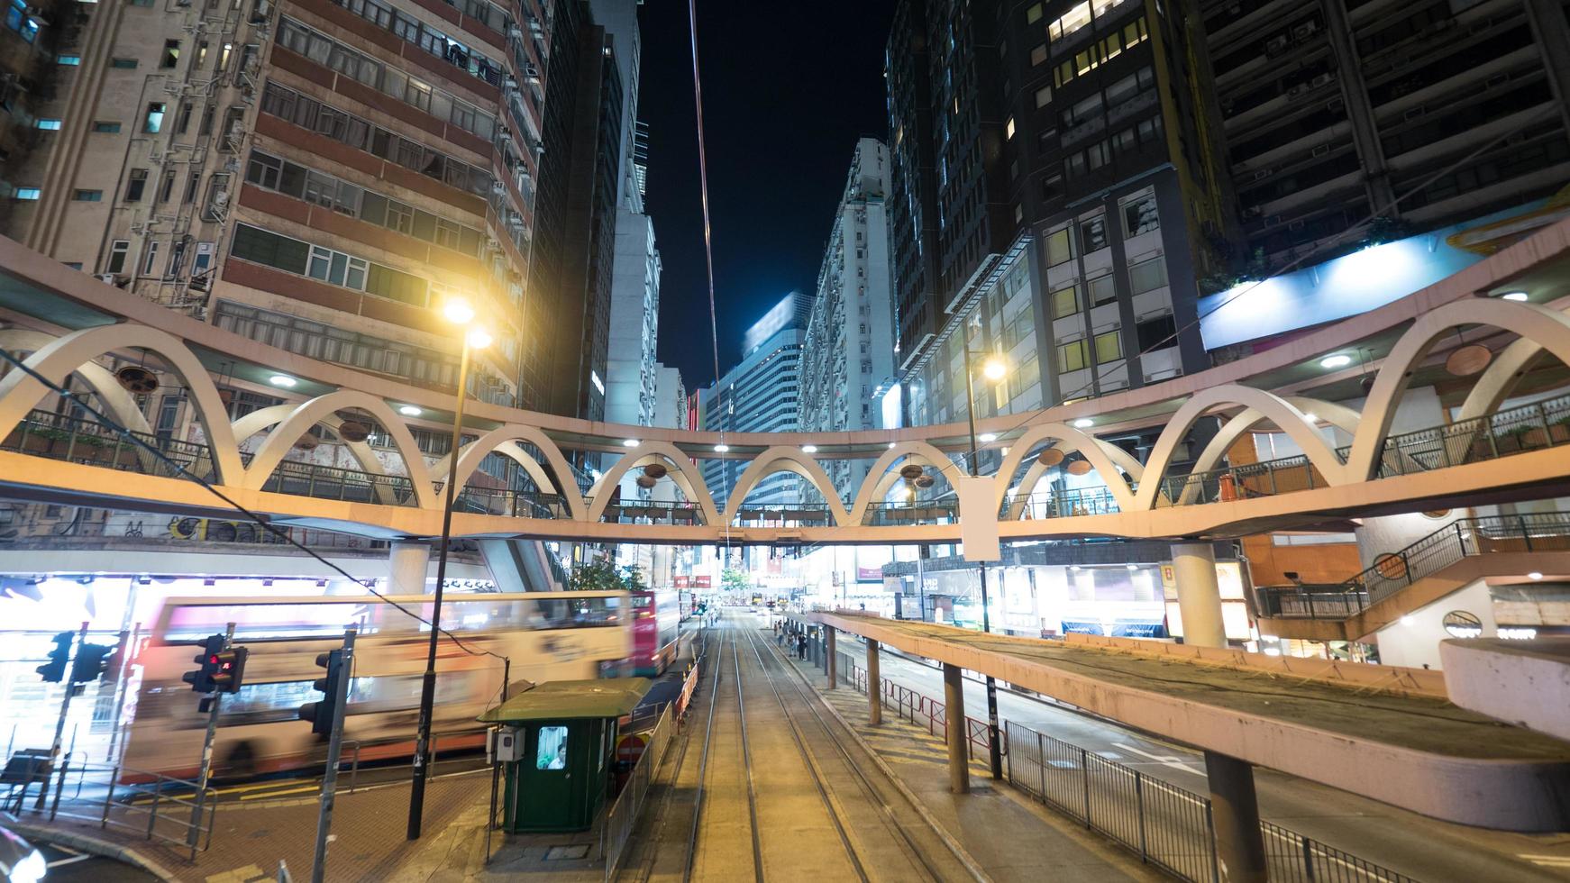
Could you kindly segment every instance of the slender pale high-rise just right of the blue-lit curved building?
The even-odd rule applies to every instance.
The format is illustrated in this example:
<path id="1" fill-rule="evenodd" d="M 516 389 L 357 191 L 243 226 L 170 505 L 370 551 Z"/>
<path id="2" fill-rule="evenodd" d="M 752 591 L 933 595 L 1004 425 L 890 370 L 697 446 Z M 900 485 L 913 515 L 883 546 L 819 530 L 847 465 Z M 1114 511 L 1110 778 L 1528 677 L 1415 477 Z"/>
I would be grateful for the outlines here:
<path id="1" fill-rule="evenodd" d="M 834 213 L 807 320 L 798 403 L 802 430 L 882 427 L 876 395 L 893 380 L 895 369 L 887 194 L 889 149 L 862 138 Z M 860 486 L 867 466 L 831 460 L 824 467 L 834 486 L 848 492 Z"/>

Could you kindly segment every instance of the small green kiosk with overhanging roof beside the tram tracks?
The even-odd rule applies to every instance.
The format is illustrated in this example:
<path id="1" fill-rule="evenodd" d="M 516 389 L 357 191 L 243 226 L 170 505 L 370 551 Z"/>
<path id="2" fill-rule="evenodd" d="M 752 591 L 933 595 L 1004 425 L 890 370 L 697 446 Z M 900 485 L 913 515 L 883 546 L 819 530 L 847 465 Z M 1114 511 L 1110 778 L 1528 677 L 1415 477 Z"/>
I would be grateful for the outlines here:
<path id="1" fill-rule="evenodd" d="M 501 726 L 496 761 L 506 765 L 502 830 L 586 831 L 611 783 L 617 720 L 653 681 L 606 678 L 537 684 L 480 715 Z"/>

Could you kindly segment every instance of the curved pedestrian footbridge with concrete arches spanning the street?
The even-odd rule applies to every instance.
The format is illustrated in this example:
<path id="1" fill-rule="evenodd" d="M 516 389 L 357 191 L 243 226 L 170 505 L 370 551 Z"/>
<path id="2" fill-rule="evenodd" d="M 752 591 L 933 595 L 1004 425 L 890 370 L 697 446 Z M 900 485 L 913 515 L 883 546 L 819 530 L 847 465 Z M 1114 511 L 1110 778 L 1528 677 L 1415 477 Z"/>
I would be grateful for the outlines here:
<path id="1" fill-rule="evenodd" d="M 451 394 L 306 358 L 171 312 L 0 240 L 0 491 L 144 511 L 228 514 L 193 478 L 276 522 L 372 536 L 441 530 Z M 711 433 L 576 420 L 473 403 L 458 452 L 452 533 L 644 543 L 988 543 L 1068 536 L 1226 538 L 1349 518 L 1537 499 L 1570 489 L 1570 223 L 1548 227 L 1429 289 L 1264 353 L 1165 383 L 980 420 L 988 467 L 961 464 L 962 425 L 859 433 Z M 1495 296 L 1529 289 L 1532 303 Z M 221 287 L 217 292 L 223 295 Z M 1490 348 L 1476 376 L 1448 372 Z M 1358 359 L 1344 365 L 1344 356 Z M 1336 365 L 1336 367 L 1325 367 Z M 1546 370 L 1543 367 L 1546 365 Z M 192 430 L 155 431 L 126 369 L 184 391 Z M 1344 370 L 1342 370 L 1344 369 Z M 231 416 L 237 391 L 283 405 Z M 61 384 L 110 417 L 61 408 Z M 1455 419 L 1396 431 L 1410 391 L 1470 384 Z M 1502 408 L 1512 397 L 1535 397 Z M 1363 398 L 1361 408 L 1349 400 Z M 408 414 L 418 416 L 408 416 Z M 1322 427 L 1352 441 L 1334 447 Z M 1196 428 L 1204 431 L 1196 433 Z M 1226 466 L 1251 430 L 1300 455 Z M 121 431 L 124 430 L 124 431 Z M 1214 430 L 1214 431 L 1212 431 Z M 1134 433 L 1154 445 L 1115 444 Z M 507 477 L 482 467 L 502 458 Z M 700 464 L 747 463 L 708 488 Z M 835 486 L 824 464 L 865 464 Z M 582 466 L 604 471 L 586 477 Z M 815 505 L 747 502 L 791 472 Z M 1074 489 L 1063 475 L 1080 477 Z M 622 494 L 623 480 L 652 499 Z M 928 481 L 928 478 L 931 478 Z"/>

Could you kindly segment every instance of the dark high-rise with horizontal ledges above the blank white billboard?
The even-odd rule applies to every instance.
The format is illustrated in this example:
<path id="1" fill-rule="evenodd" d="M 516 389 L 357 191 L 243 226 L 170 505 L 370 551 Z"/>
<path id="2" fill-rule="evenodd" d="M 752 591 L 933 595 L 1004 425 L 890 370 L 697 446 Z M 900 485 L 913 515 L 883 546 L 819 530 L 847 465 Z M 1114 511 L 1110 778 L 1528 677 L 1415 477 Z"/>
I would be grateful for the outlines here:
<path id="1" fill-rule="evenodd" d="M 1204 0 L 1199 11 L 1242 263 L 1256 278 L 1518 205 L 1570 179 L 1561 3 Z"/>

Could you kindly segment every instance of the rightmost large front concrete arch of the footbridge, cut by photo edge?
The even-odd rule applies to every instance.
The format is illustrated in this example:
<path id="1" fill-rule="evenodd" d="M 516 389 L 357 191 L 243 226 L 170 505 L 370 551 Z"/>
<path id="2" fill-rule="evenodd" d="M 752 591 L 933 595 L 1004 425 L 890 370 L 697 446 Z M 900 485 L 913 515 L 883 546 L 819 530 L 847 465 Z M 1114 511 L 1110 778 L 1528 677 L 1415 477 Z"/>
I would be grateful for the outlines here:
<path id="1" fill-rule="evenodd" d="M 1531 303 L 1504 301 L 1498 298 L 1468 298 L 1440 304 L 1422 314 L 1405 334 L 1396 340 L 1385 364 L 1374 378 L 1363 406 L 1363 420 L 1352 439 L 1352 455 L 1347 458 L 1344 477 L 1364 481 L 1374 477 L 1378 450 L 1389 434 L 1396 417 L 1396 405 L 1411 378 L 1411 370 L 1429 354 L 1435 342 L 1460 325 L 1485 325 L 1510 331 L 1524 340 L 1532 340 L 1570 364 L 1570 317 Z M 1502 370 L 1502 369 L 1501 369 Z M 1328 477 L 1328 474 L 1327 474 Z"/>

